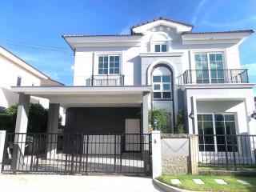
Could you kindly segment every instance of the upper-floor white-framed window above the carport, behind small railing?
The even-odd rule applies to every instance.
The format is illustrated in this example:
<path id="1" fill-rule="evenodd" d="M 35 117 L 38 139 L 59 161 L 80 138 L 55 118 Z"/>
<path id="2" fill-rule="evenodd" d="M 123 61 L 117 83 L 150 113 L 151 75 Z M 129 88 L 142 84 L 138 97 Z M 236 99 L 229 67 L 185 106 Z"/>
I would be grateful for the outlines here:
<path id="1" fill-rule="evenodd" d="M 120 56 L 104 55 L 98 57 L 98 74 L 119 74 Z"/>

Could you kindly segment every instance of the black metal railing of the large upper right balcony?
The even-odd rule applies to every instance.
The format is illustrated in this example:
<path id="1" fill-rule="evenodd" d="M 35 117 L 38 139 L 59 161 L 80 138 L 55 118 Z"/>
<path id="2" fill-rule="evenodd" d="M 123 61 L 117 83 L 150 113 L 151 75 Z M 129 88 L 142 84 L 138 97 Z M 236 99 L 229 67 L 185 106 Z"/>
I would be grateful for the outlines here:
<path id="1" fill-rule="evenodd" d="M 178 76 L 178 85 L 202 83 L 249 83 L 248 72 L 238 70 L 186 70 Z"/>

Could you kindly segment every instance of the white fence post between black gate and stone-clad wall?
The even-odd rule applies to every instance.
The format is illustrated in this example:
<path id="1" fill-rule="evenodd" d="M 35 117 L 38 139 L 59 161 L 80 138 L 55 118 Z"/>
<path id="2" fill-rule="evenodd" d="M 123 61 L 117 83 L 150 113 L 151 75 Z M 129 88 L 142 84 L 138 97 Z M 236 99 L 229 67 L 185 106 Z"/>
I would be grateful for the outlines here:
<path id="1" fill-rule="evenodd" d="M 161 134 L 158 130 L 152 131 L 152 177 L 162 174 Z"/>

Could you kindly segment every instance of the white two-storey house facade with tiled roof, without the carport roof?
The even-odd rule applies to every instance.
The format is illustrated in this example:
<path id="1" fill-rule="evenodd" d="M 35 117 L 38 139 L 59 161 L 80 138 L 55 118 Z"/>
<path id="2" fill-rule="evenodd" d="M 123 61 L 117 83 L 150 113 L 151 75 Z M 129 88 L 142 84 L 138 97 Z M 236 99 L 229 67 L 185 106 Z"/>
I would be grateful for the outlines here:
<path id="1" fill-rule="evenodd" d="M 254 84 L 249 82 L 247 70 L 241 69 L 238 50 L 253 31 L 194 33 L 192 29 L 186 23 L 158 18 L 133 26 L 128 35 L 64 35 L 75 54 L 74 86 L 150 86 L 148 109 L 169 112 L 170 133 L 181 110 L 190 134 L 206 134 L 208 126 L 207 134 L 255 134 L 255 121 L 248 118 L 254 110 Z M 78 114 L 82 119 L 86 110 L 106 118 L 102 124 L 121 118 L 118 106 L 90 107 L 68 109 L 67 125 L 70 121 L 78 129 L 71 117 Z M 140 111 L 139 106 L 127 107 L 134 110 L 127 114 Z M 113 117 L 108 117 L 109 111 Z M 125 113 L 122 119 L 136 118 L 134 115 Z M 124 121 L 120 123 L 119 128 L 125 126 Z M 90 122 L 94 130 L 91 124 L 94 120 Z M 222 127 L 217 129 L 219 124 Z"/>

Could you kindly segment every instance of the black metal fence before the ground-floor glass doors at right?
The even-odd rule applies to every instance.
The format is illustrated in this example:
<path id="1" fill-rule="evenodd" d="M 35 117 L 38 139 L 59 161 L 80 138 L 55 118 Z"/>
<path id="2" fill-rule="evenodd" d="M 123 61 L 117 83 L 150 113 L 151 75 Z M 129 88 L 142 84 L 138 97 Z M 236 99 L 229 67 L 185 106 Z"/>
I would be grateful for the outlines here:
<path id="1" fill-rule="evenodd" d="M 256 168 L 256 135 L 198 134 L 198 165 Z"/>

